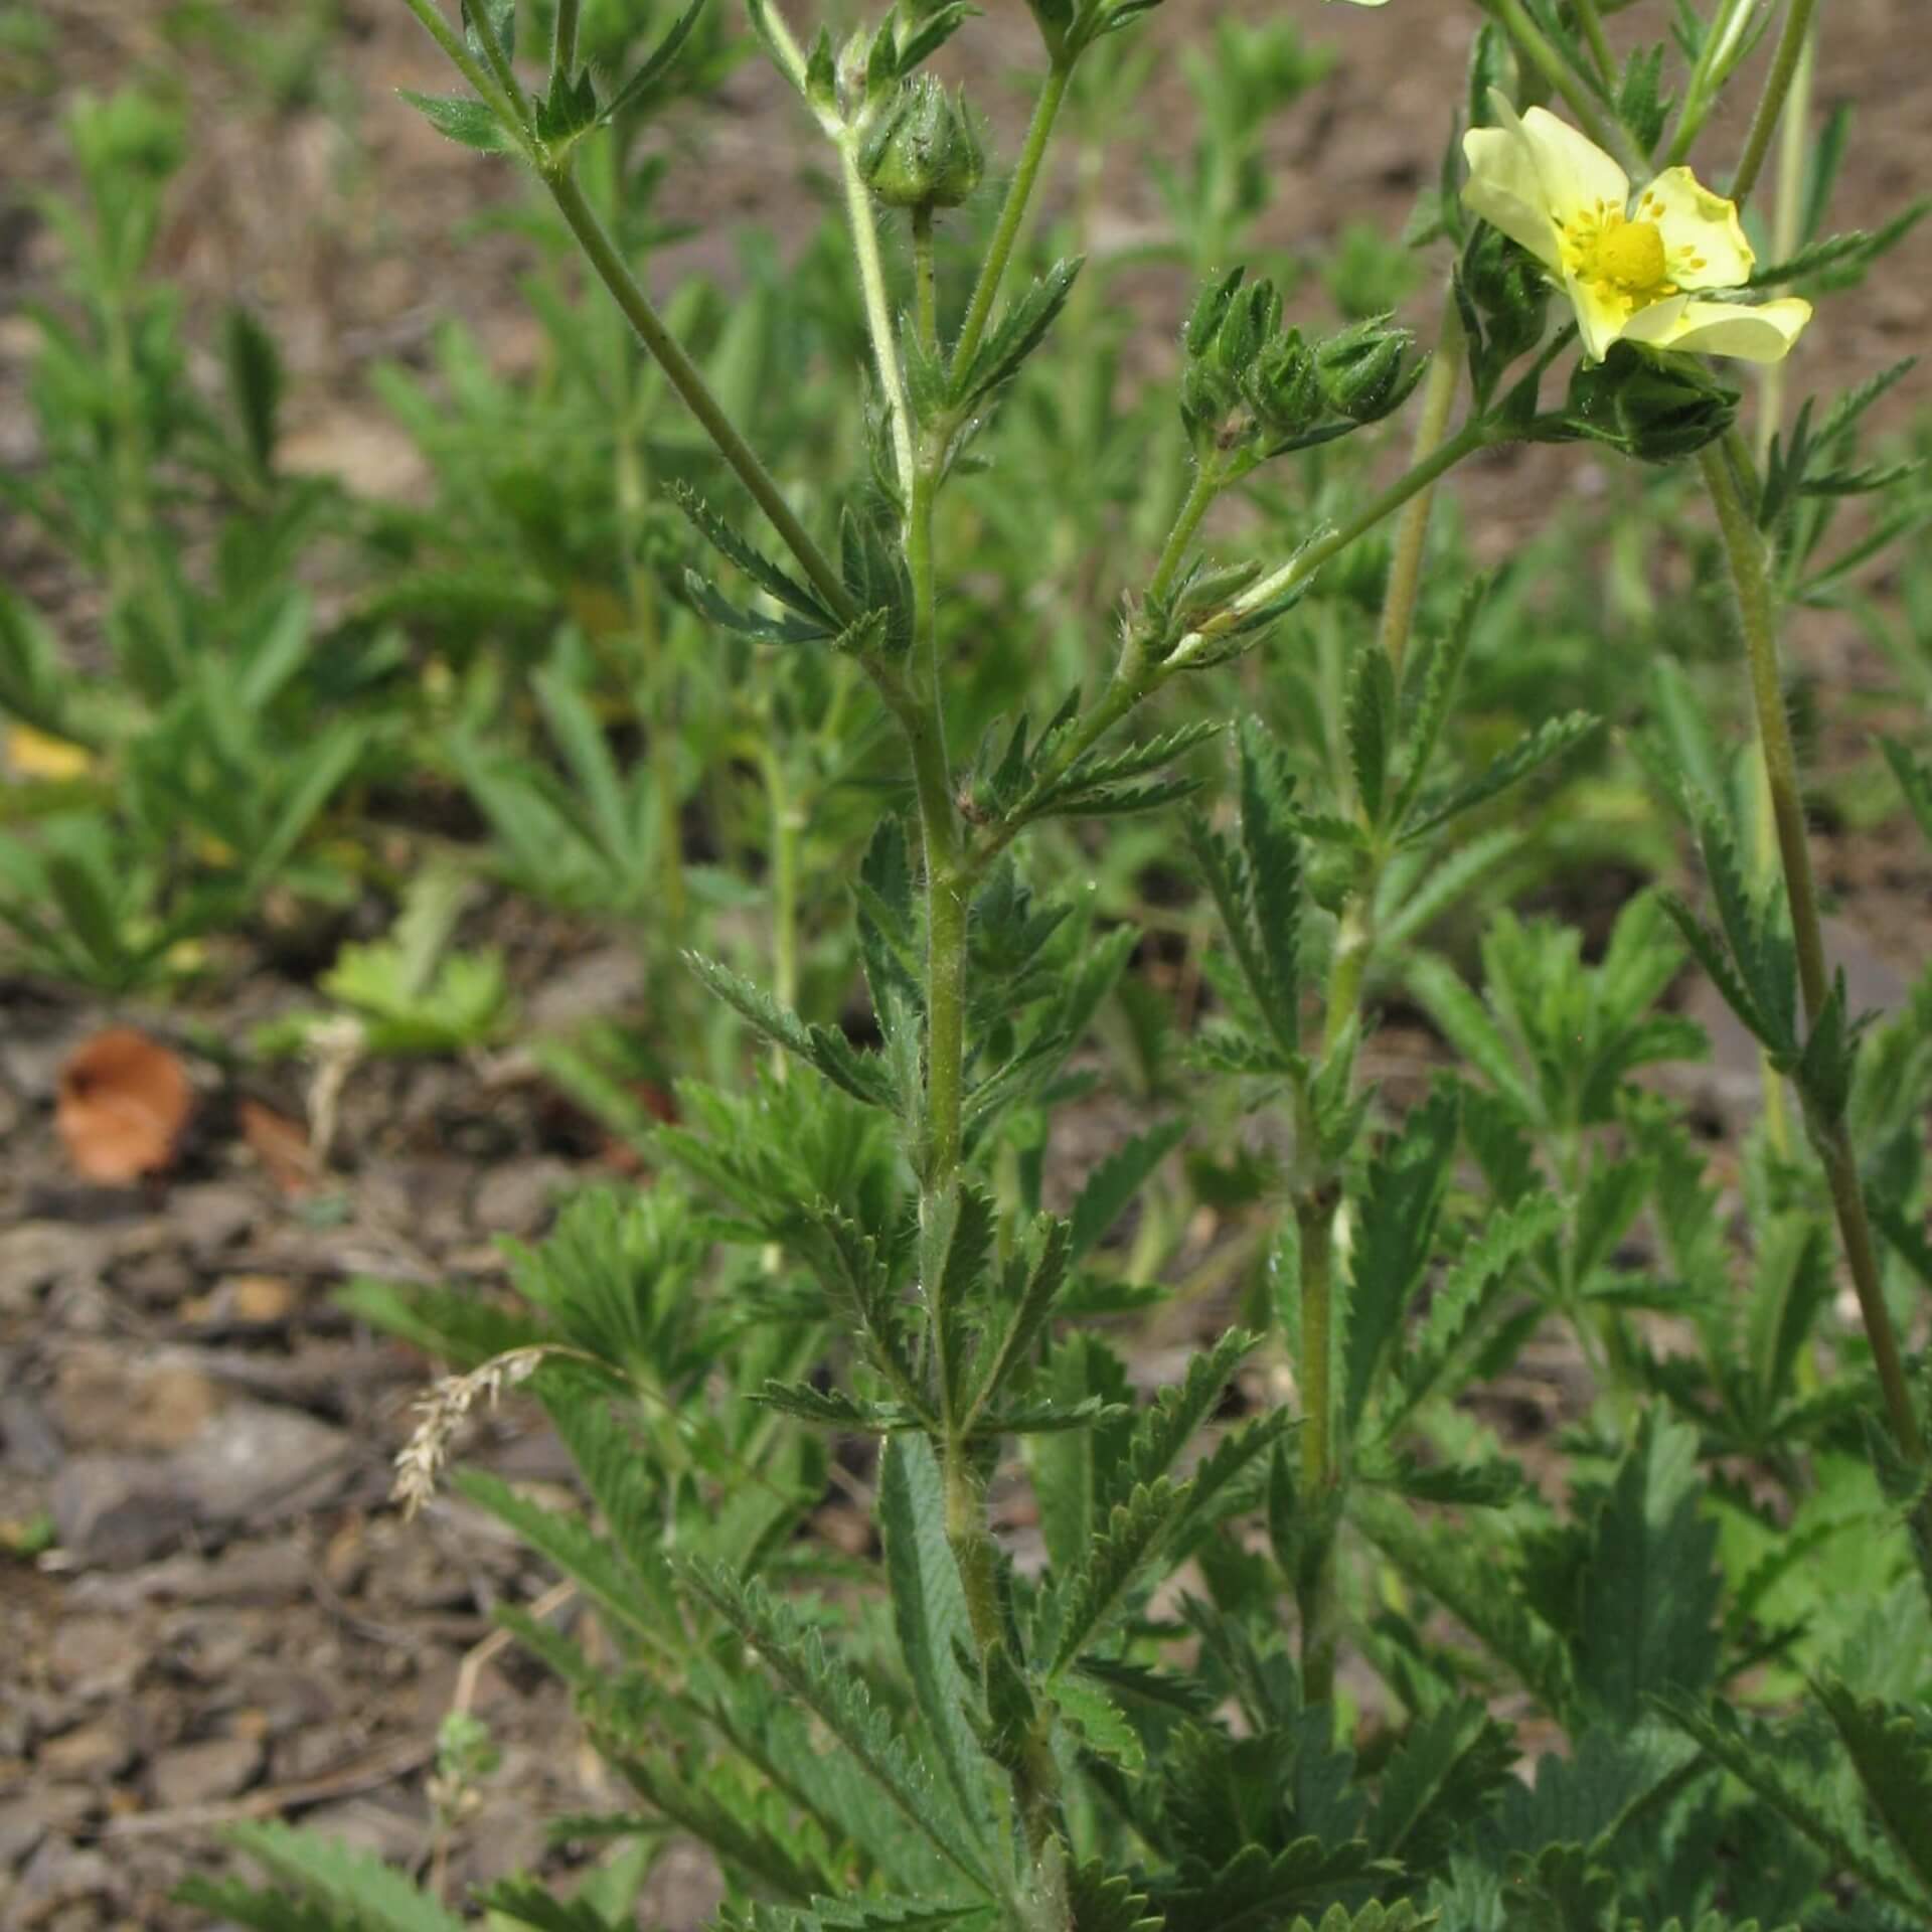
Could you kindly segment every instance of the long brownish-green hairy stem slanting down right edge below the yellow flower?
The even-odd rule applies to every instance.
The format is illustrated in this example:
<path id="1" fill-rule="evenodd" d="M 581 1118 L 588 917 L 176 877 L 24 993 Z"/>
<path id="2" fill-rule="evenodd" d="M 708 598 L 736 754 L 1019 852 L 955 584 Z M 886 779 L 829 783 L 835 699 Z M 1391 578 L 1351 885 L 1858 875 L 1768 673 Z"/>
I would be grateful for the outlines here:
<path id="1" fill-rule="evenodd" d="M 1791 746 L 1791 723 L 1785 717 L 1785 697 L 1777 674 L 1777 630 L 1772 614 L 1772 583 L 1766 570 L 1764 545 L 1758 537 L 1723 452 L 1706 448 L 1698 456 L 1704 487 L 1718 527 L 1723 535 L 1731 582 L 1737 589 L 1737 612 L 1750 659 L 1750 696 L 1758 711 L 1758 742 L 1764 750 L 1764 773 L 1772 788 L 1772 817 L 1777 827 L 1777 850 L 1785 871 L 1785 896 L 1791 904 L 1791 931 L 1797 943 L 1799 989 L 1804 995 L 1804 1018 L 1818 1024 L 1818 1014 L 1830 995 L 1824 958 L 1824 927 L 1818 918 L 1818 889 L 1812 879 L 1810 844 L 1804 837 L 1804 804 L 1799 794 L 1799 765 Z M 1907 1463 L 1926 1459 L 1924 1432 L 1913 1406 L 1899 1356 L 1899 1339 L 1891 1327 L 1884 1289 L 1878 1279 L 1878 1256 L 1864 1208 L 1864 1188 L 1853 1157 L 1851 1136 L 1843 1117 L 1820 1122 L 1818 1153 L 1824 1159 L 1832 1206 L 1837 1213 L 1845 1262 L 1859 1294 L 1866 1341 L 1872 1347 L 1872 1366 L 1886 1401 L 1893 1439 Z M 1924 1511 L 1932 1517 L 1932 1505 Z"/>

